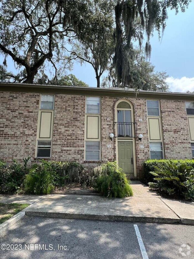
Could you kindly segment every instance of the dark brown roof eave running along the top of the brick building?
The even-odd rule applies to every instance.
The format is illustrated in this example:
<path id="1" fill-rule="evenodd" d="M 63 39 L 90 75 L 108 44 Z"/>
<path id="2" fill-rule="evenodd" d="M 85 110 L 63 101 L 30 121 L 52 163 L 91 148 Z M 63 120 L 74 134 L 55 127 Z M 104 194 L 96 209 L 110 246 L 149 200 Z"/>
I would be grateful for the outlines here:
<path id="1" fill-rule="evenodd" d="M 0 83 L 0 91 L 6 92 L 36 92 L 53 94 L 73 94 L 109 97 L 137 97 L 166 100 L 194 100 L 191 93 L 173 92 L 151 92 L 139 90 L 136 93 L 133 89 L 126 88 L 97 88 L 97 87 L 78 87 L 78 86 L 54 86 L 54 85 L 35 85 L 22 83 Z"/>

